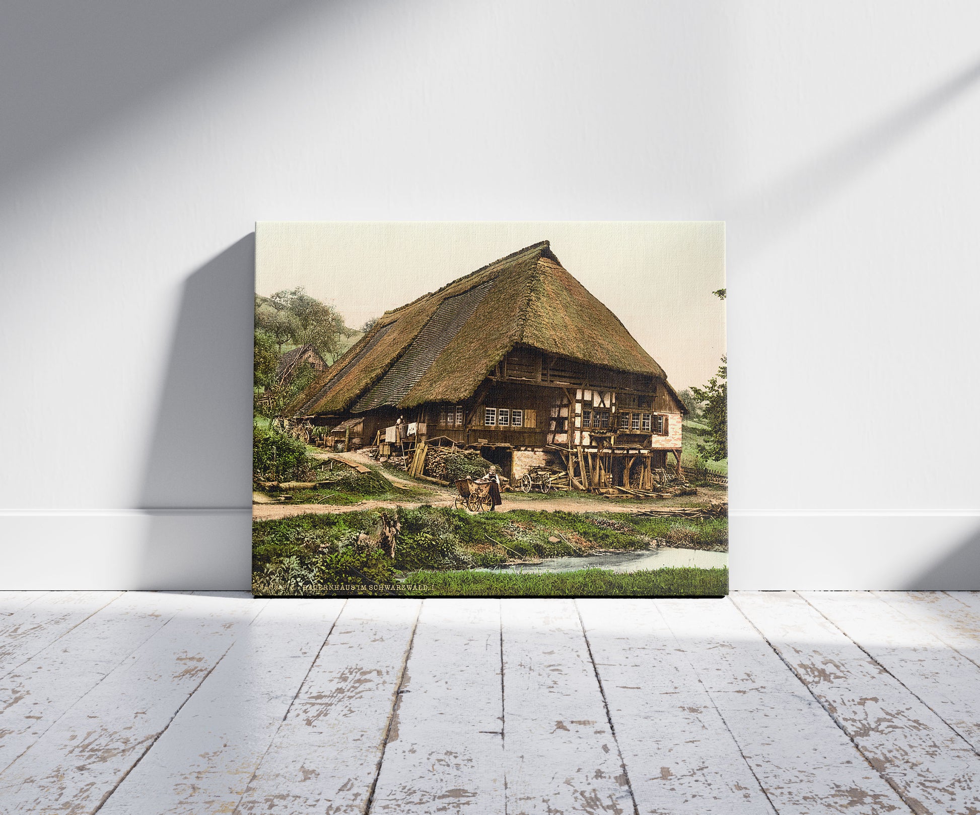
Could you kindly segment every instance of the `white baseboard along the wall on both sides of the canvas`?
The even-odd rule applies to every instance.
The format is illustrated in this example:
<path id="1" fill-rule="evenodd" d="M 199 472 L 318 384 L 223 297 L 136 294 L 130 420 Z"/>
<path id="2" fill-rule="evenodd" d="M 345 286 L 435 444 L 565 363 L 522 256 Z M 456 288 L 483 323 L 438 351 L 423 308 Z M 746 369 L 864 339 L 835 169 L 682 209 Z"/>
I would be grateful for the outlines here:
<path id="1" fill-rule="evenodd" d="M 0 589 L 250 586 L 251 511 L 2 510 Z M 980 589 L 980 513 L 731 519 L 733 589 Z"/>

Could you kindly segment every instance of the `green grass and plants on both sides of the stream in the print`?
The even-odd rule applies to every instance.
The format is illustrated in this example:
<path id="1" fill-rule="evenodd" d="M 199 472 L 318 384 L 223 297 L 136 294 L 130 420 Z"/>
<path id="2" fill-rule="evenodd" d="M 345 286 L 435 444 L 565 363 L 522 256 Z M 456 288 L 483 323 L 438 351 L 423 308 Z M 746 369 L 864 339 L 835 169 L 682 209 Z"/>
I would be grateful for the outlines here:
<path id="1" fill-rule="evenodd" d="M 381 559 L 376 556 L 380 551 L 376 546 L 382 515 L 399 524 L 394 559 L 386 554 Z M 438 589 L 443 593 L 466 593 L 461 586 L 466 588 L 469 581 L 473 586 L 483 586 L 479 591 L 491 595 L 717 594 L 721 593 L 717 580 L 712 579 L 714 582 L 708 585 L 702 578 L 695 580 L 688 575 L 684 583 L 681 578 L 688 573 L 683 569 L 656 570 L 635 579 L 602 569 L 562 575 L 466 570 L 597 550 L 641 550 L 648 548 L 654 538 L 665 539 L 668 545 L 725 551 L 727 536 L 728 523 L 724 518 L 647 518 L 541 510 L 471 515 L 450 507 L 402 506 L 257 521 L 252 525 L 252 566 L 257 591 L 266 595 L 316 596 L 330 593 L 333 589 L 329 586 L 337 584 L 370 593 L 375 590 L 370 584 L 393 584 L 398 575 L 408 575 L 412 582 L 422 572 L 447 576 L 444 580 L 449 583 L 433 584 L 443 586 Z M 694 569 L 692 574 L 701 571 Z M 672 572 L 681 577 L 671 577 Z M 531 583 L 506 590 L 500 587 L 512 586 L 515 580 Z M 560 587 L 549 588 L 555 581 L 559 583 L 554 585 Z M 567 581 L 578 583 L 572 586 Z M 466 588 L 470 590 L 478 593 L 476 588 Z"/>

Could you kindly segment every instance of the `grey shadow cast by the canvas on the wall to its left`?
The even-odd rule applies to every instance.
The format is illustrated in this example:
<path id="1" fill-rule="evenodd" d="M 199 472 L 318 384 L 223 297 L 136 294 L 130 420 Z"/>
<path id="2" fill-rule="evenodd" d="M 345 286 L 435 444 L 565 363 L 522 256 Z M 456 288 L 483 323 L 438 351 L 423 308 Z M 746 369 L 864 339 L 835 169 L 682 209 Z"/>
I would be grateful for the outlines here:
<path id="1" fill-rule="evenodd" d="M 249 586 L 254 289 L 255 233 L 184 283 L 139 493 L 140 587 Z"/>

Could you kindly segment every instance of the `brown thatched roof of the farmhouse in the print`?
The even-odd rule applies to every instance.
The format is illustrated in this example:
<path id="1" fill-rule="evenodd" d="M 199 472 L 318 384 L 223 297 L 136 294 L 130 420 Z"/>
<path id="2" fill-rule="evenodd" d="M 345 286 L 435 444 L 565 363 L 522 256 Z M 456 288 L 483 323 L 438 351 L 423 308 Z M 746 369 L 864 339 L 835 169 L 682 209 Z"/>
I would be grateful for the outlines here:
<path id="1" fill-rule="evenodd" d="M 385 312 L 289 409 L 308 416 L 462 401 L 517 344 L 666 380 L 543 240 Z"/>

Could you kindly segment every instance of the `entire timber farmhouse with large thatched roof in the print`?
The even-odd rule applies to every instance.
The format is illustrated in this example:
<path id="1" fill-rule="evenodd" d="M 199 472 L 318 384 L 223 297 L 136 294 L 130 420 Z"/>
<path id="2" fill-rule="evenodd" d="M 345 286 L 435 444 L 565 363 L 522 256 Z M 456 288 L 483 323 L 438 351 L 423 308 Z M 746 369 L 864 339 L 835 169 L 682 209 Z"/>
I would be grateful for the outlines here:
<path id="1" fill-rule="evenodd" d="M 667 453 L 679 468 L 686 410 L 545 240 L 386 312 L 289 412 L 358 419 L 365 439 L 401 419 L 479 448 L 512 480 L 550 465 L 597 489 L 649 488 Z"/>

